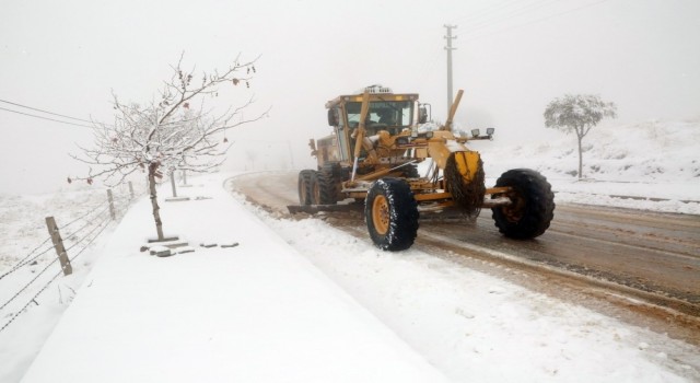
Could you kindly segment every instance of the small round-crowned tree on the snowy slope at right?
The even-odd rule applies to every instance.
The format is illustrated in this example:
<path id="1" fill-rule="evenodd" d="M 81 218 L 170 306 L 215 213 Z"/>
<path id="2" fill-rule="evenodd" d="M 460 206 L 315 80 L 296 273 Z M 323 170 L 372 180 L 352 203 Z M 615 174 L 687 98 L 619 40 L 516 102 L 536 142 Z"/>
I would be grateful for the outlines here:
<path id="1" fill-rule="evenodd" d="M 576 134 L 579 179 L 583 177 L 583 138 L 605 117 L 616 118 L 617 106 L 592 94 L 567 94 L 555 98 L 545 109 L 545 126 L 563 130 L 565 134 Z"/>

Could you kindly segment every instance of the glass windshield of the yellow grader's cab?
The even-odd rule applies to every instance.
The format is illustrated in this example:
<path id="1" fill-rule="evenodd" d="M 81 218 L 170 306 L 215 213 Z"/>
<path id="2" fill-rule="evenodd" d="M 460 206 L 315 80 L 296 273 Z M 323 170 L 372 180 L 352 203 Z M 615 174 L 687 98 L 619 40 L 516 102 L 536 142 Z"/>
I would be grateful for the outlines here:
<path id="1" fill-rule="evenodd" d="M 353 128 L 360 124 L 360 109 L 362 103 L 350 102 L 346 104 L 348 112 L 348 125 Z M 370 103 L 368 126 L 385 125 L 387 127 L 411 126 L 413 118 L 413 102 L 411 101 L 373 101 Z"/>

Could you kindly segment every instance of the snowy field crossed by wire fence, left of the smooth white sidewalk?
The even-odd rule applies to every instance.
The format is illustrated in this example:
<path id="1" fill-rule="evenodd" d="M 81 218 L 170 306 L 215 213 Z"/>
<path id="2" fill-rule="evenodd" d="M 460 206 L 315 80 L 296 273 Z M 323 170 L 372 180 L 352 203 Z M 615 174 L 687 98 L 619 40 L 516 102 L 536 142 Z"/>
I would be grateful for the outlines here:
<path id="1" fill-rule="evenodd" d="M 119 187 L 113 198 L 119 218 L 131 196 Z M 61 277 L 46 217 L 55 218 L 72 259 L 73 274 L 68 277 Z M 104 189 L 0 196 L 0 382 L 22 376 L 115 227 Z"/>

